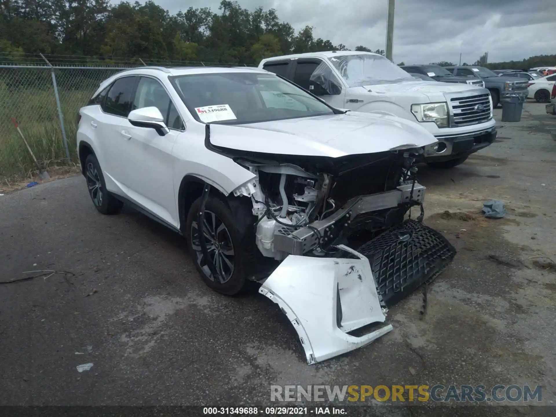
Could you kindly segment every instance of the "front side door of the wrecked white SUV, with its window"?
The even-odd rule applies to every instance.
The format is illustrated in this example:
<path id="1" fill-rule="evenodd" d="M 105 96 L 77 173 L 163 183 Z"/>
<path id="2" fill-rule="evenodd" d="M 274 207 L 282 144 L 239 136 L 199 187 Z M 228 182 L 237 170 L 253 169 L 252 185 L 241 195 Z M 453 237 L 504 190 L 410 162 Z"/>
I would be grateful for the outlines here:
<path id="1" fill-rule="evenodd" d="M 172 147 L 185 127 L 162 83 L 141 76 L 131 110 L 151 106 L 157 107 L 165 117 L 170 133 L 160 136 L 153 128 L 133 126 L 125 119 L 119 127 L 125 151 L 118 157 L 127 160 L 125 185 L 128 198 L 177 227 L 179 217 L 173 190 Z"/>

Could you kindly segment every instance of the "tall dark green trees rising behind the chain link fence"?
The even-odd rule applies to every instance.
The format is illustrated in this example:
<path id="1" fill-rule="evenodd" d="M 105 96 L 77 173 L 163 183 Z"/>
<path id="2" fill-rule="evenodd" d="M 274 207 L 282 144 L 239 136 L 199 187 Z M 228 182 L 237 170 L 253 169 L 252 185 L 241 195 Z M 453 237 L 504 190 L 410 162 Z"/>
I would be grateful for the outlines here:
<path id="1" fill-rule="evenodd" d="M 222 0 L 170 14 L 146 3 L 108 0 L 0 0 L 0 54 L 259 63 L 288 53 L 346 50 L 315 38 L 313 28 L 295 32 L 275 9 L 254 11 Z M 371 51 L 358 46 L 357 51 Z M 375 50 L 384 54 L 384 51 Z"/>

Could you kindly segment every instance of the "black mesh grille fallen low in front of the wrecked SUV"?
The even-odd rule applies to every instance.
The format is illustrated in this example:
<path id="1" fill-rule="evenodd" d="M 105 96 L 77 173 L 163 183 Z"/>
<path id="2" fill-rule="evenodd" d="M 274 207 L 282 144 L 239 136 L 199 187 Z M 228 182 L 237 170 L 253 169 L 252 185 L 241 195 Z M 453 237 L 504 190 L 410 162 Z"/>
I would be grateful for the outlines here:
<path id="1" fill-rule="evenodd" d="M 433 281 L 456 254 L 444 236 L 415 220 L 385 231 L 358 252 L 368 257 L 387 306 Z"/>

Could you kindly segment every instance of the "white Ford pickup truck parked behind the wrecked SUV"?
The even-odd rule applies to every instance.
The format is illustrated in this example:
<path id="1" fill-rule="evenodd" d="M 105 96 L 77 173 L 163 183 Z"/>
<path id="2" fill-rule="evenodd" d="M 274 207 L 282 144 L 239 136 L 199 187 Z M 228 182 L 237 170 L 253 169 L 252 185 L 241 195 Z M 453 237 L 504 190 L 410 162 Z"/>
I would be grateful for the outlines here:
<path id="1" fill-rule="evenodd" d="M 459 165 L 493 143 L 497 135 L 488 90 L 416 80 L 376 53 L 293 54 L 263 59 L 259 68 L 294 82 L 336 108 L 385 113 L 419 123 L 438 140 L 423 153 L 424 162 L 435 168 Z"/>

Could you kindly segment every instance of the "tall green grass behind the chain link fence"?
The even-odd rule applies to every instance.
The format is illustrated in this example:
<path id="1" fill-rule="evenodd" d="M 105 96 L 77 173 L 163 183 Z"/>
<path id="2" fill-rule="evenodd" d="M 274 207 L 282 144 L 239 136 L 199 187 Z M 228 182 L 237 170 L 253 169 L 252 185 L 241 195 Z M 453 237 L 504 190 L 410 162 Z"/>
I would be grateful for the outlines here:
<path id="1" fill-rule="evenodd" d="M 0 68 L 0 177 L 28 175 L 38 170 L 13 125 L 15 117 L 41 169 L 78 162 L 77 114 L 99 83 L 121 71 L 93 68 L 59 69 L 58 93 L 70 160 L 62 138 L 51 73 L 39 68 Z"/>

